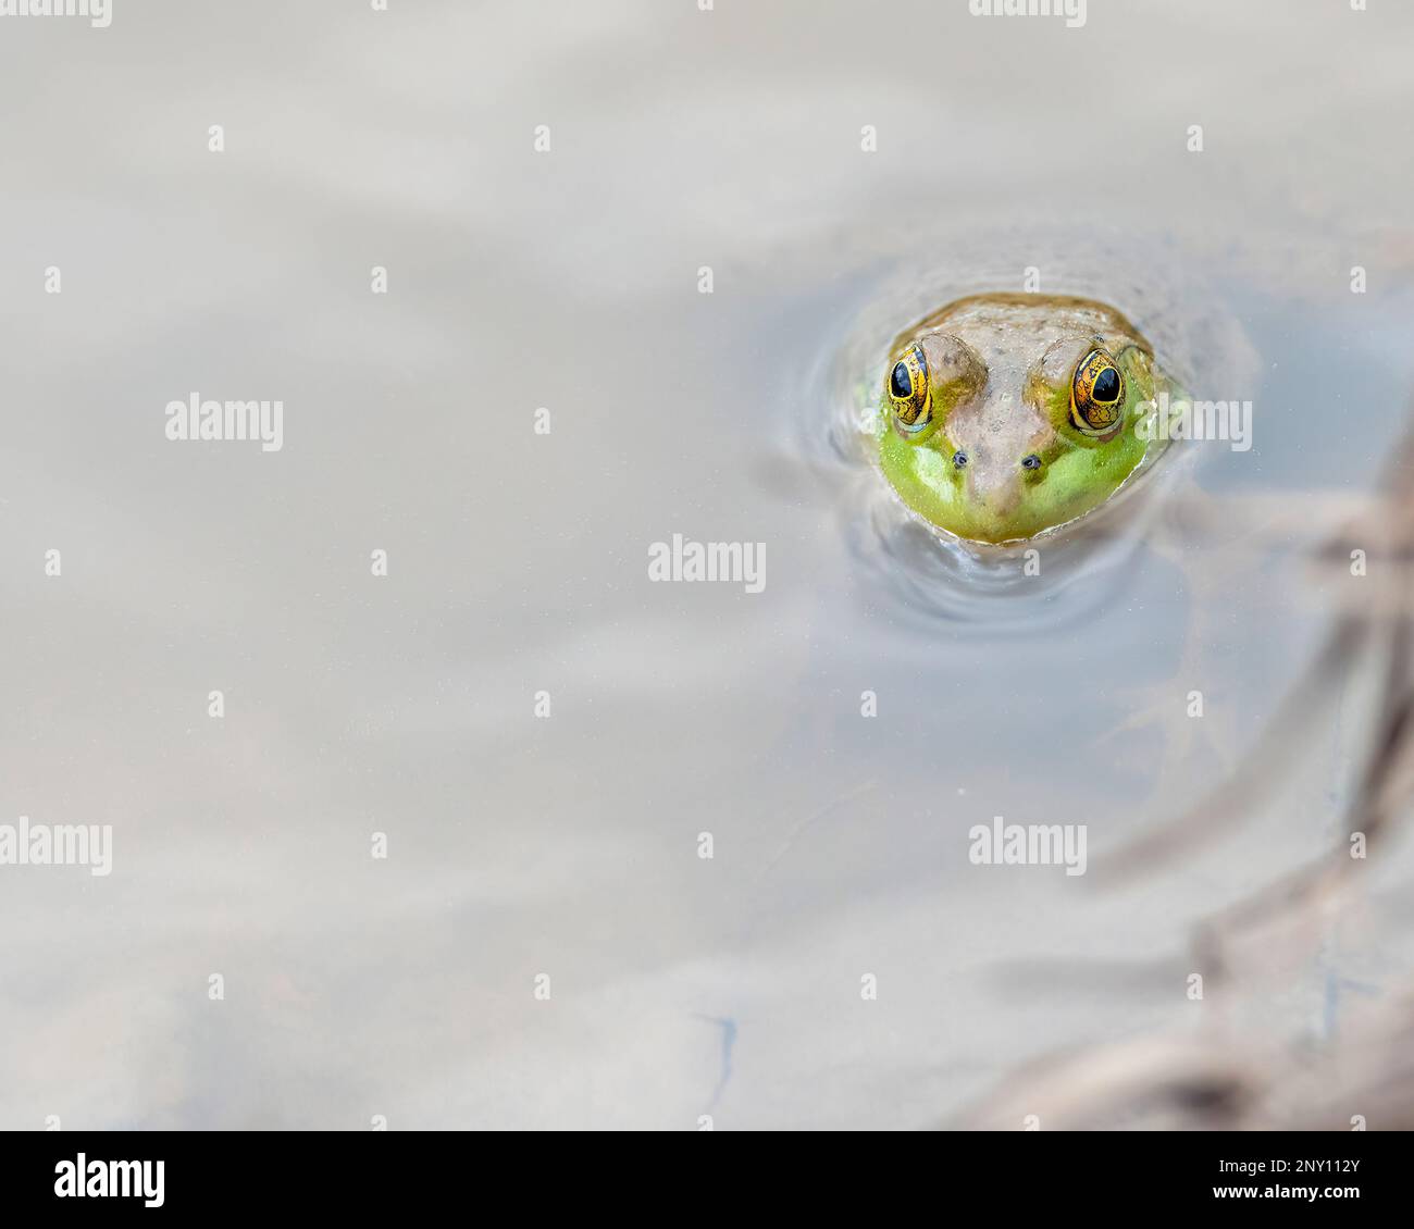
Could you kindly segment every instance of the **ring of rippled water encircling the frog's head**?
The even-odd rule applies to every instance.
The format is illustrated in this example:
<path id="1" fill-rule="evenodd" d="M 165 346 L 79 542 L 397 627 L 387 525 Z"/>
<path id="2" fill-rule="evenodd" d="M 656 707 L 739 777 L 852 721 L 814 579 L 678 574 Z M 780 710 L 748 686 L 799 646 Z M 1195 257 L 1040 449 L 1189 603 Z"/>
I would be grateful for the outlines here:
<path id="1" fill-rule="evenodd" d="M 978 245 L 984 246 L 984 245 Z M 1151 339 L 1161 363 L 1188 388 L 1250 369 L 1241 328 L 1212 291 L 1162 245 L 1145 252 L 1138 276 L 1114 246 L 1066 236 L 1018 246 L 1004 236 L 986 266 L 954 253 L 930 273 L 884 280 L 867 305 L 822 346 L 809 396 L 827 407 L 790 417 L 796 455 L 809 458 L 829 485 L 831 503 L 861 571 L 875 593 L 891 595 L 898 618 L 918 624 L 976 625 L 991 634 L 1025 635 L 1077 622 L 1114 598 L 1134 552 L 1144 543 L 1165 495 L 1195 461 L 1192 448 L 1171 447 L 1159 464 L 1127 484 L 1079 522 L 1027 542 L 986 546 L 939 530 L 909 512 L 878 471 L 874 423 L 889 342 L 912 321 L 967 294 L 1015 290 L 1036 252 L 1063 256 L 1044 269 L 1046 294 L 1077 294 L 1111 303 Z M 1193 356 L 1202 361 L 1195 362 Z"/>

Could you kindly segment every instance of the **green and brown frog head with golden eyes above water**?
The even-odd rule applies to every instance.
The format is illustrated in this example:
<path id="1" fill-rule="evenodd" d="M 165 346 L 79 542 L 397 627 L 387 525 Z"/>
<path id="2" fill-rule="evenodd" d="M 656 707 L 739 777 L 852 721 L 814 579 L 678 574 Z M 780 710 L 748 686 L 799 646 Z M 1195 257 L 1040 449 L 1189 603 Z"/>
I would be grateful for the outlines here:
<path id="1" fill-rule="evenodd" d="M 1182 396 L 1109 304 L 970 294 L 894 339 L 880 464 L 935 529 L 1025 542 L 1073 526 L 1148 470 L 1168 447 L 1161 407 Z"/>

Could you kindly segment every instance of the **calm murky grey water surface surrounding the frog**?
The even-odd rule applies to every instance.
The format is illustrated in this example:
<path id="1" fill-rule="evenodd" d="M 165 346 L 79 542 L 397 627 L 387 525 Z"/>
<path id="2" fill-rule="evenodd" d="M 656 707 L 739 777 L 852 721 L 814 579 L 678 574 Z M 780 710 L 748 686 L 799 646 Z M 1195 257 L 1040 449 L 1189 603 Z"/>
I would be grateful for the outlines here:
<path id="1" fill-rule="evenodd" d="M 967 833 L 1097 864 L 1319 641 L 1308 552 L 1414 389 L 1414 14 L 365 7 L 6 23 L 0 823 L 112 825 L 113 868 L 0 867 L 0 1126 L 918 1126 L 1232 1014 L 1192 928 L 1338 836 L 1369 668 L 1114 891 Z M 881 339 L 1028 266 L 1254 445 L 1024 584 L 850 427 Z M 192 392 L 281 399 L 283 448 L 167 440 Z M 764 590 L 650 581 L 673 535 Z M 1261 1027 L 1407 972 L 1400 850 L 1367 931 L 1239 979 Z"/>

